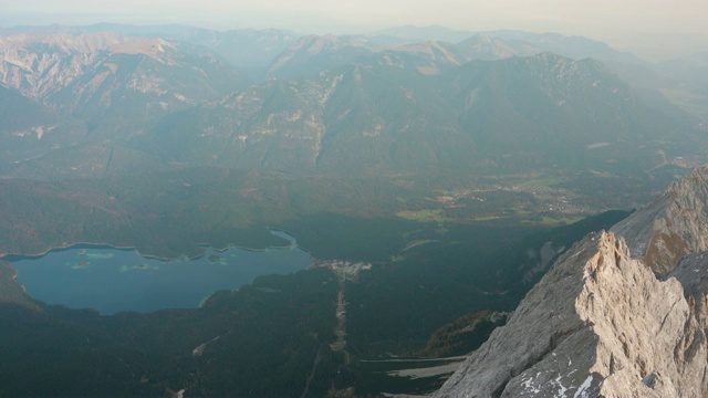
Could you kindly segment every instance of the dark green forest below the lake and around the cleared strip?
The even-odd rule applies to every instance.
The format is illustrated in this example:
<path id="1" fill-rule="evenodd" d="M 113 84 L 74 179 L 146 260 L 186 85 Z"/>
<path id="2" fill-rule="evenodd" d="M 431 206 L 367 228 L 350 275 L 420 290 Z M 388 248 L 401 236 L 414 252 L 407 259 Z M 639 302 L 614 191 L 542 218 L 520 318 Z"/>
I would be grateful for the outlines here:
<path id="1" fill-rule="evenodd" d="M 324 268 L 261 276 L 238 291 L 212 295 L 200 308 L 150 314 L 100 316 L 48 306 L 24 296 L 7 272 L 3 285 L 12 289 L 3 289 L 0 355 L 8 360 L 2 362 L 0 395 L 429 390 L 437 377 L 403 383 L 361 359 L 472 349 L 494 324 L 482 322 L 468 331 L 462 345 L 440 339 L 438 329 L 445 324 L 448 331 L 459 328 L 459 318 L 479 311 L 513 310 L 542 274 L 539 258 L 530 253 L 546 242 L 561 251 L 625 216 L 607 212 L 560 228 L 303 217 L 282 227 L 294 230 L 312 255 L 363 259 L 375 266 L 343 284 Z M 415 239 L 425 243 L 406 247 Z M 537 273 L 524 279 L 534 268 Z M 341 290 L 347 316 L 344 350 L 331 346 Z"/>

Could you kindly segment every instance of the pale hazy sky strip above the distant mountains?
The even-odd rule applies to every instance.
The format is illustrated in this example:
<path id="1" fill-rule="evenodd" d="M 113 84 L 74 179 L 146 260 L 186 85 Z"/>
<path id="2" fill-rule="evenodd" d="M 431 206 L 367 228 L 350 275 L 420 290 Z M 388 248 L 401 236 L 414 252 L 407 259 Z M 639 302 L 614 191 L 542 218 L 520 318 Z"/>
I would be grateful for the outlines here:
<path id="1" fill-rule="evenodd" d="M 186 23 L 363 32 L 396 25 L 558 31 L 608 40 L 708 36 L 708 0 L 0 0 L 0 24 Z"/>

